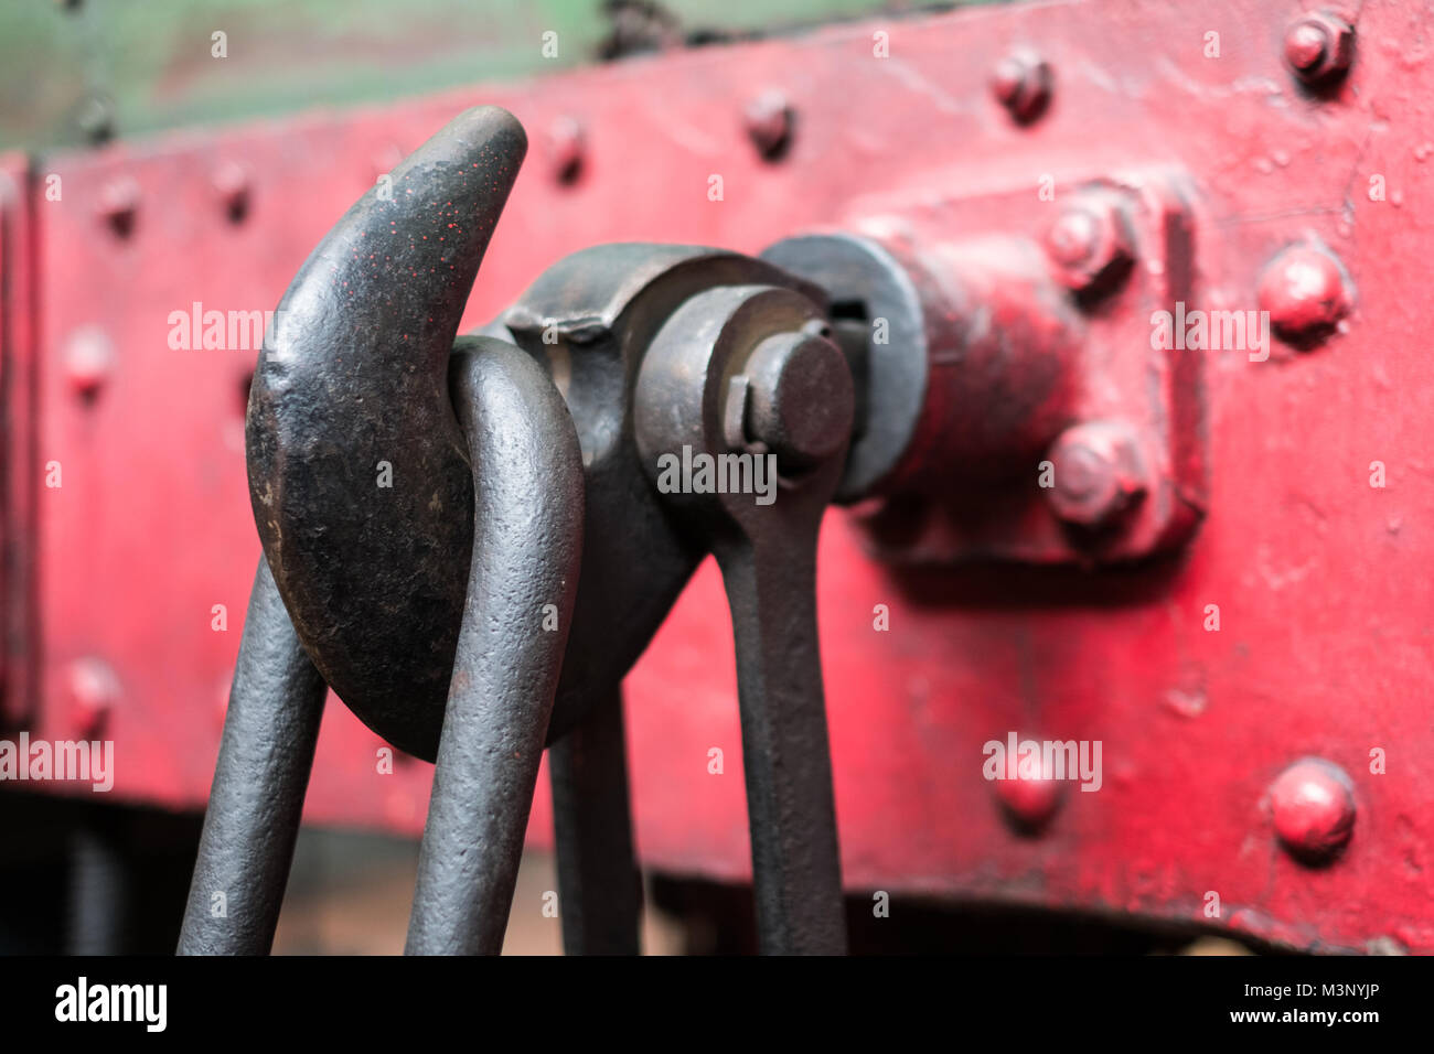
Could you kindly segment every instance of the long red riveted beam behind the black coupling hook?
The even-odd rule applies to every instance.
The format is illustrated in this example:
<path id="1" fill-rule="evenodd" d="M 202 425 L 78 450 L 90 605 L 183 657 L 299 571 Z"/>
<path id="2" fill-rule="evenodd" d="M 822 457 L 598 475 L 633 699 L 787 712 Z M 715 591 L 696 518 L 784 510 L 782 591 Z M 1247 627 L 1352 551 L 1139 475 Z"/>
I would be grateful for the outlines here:
<path id="1" fill-rule="evenodd" d="M 258 558 L 241 443 L 254 351 L 176 350 L 171 314 L 272 308 L 343 209 L 462 106 L 508 106 L 535 132 L 582 129 L 576 171 L 535 152 L 519 178 L 473 324 L 595 242 L 759 251 L 892 214 L 1002 234 L 969 202 L 1020 188 L 1034 234 L 1086 181 L 1166 168 L 1190 188 L 1193 305 L 1260 307 L 1260 275 L 1291 245 L 1332 254 L 1348 303 L 1331 333 L 1298 348 L 1276 340 L 1266 361 L 1210 350 L 1183 381 L 1157 379 L 1203 377 L 1192 435 L 1207 459 L 1207 516 L 1162 559 L 902 569 L 863 551 L 850 513 L 829 516 L 819 604 L 846 880 L 1305 948 L 1434 951 L 1434 364 L 1411 337 L 1434 327 L 1431 27 L 1423 6 L 1369 0 L 1348 72 L 1311 90 L 1285 57 L 1299 14 L 1256 0 L 1197 16 L 1098 0 L 893 19 L 44 159 L 36 175 L 63 176 L 63 201 L 30 185 L 39 420 L 20 467 L 39 480 L 57 460 L 63 486 L 33 483 L 32 734 L 80 734 L 90 716 L 76 685 L 106 668 L 115 796 L 204 803 Z M 979 57 L 1022 47 L 1048 63 L 1050 98 L 1017 122 Z M 793 113 L 776 159 L 744 118 L 766 87 Z M 238 217 L 221 175 L 235 165 L 248 174 Z M 13 288 L 27 265 L 4 245 Z M 1124 327 L 1111 356 L 1149 354 L 1124 343 L 1149 341 L 1137 310 L 1149 303 L 1117 298 L 1090 315 Z M 87 393 L 65 369 L 86 327 L 116 350 Z M 7 336 L 7 369 L 13 356 L 23 369 L 24 340 Z M 27 407 L 7 391 L 14 420 Z M 224 631 L 211 628 L 219 604 Z M 628 694 L 644 862 L 743 878 L 730 619 L 711 566 Z M 1067 786 L 1044 825 L 1018 829 L 1001 794 L 1020 807 L 1020 789 L 982 777 L 982 744 L 1010 731 L 1100 740 L 1101 790 Z M 381 774 L 380 746 L 331 707 L 313 822 L 420 829 L 432 770 Z M 1271 787 L 1304 757 L 1349 780 L 1348 843 L 1324 866 L 1276 832 Z M 548 829 L 543 796 L 535 837 Z"/>

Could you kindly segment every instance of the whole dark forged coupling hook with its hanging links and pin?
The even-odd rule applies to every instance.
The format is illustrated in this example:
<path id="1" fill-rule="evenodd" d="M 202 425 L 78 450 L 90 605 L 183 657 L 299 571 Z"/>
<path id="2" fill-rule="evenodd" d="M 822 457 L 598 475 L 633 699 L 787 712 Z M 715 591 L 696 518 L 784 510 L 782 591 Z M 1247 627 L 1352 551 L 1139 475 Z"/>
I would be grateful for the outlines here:
<path id="1" fill-rule="evenodd" d="M 815 561 L 853 400 L 825 294 L 734 252 L 609 245 L 457 338 L 525 149 L 509 113 L 459 115 L 275 313 L 245 429 L 265 559 L 181 952 L 268 951 L 326 683 L 436 761 L 407 952 L 500 951 L 545 746 L 566 951 L 637 952 L 619 684 L 708 552 L 737 641 L 761 948 L 845 949 Z M 739 369 L 751 406 L 733 412 Z M 684 443 L 770 449 L 776 502 L 664 493 L 652 459 Z"/>

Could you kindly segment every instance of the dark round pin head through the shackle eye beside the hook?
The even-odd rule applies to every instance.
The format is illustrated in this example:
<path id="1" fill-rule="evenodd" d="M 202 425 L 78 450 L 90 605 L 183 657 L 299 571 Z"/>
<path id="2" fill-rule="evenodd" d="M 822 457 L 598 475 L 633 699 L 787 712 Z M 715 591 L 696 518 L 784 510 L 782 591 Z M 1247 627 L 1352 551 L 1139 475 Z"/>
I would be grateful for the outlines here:
<path id="1" fill-rule="evenodd" d="M 777 455 L 784 470 L 816 465 L 850 439 L 852 371 L 825 327 L 767 337 L 743 374 L 743 433 Z"/>

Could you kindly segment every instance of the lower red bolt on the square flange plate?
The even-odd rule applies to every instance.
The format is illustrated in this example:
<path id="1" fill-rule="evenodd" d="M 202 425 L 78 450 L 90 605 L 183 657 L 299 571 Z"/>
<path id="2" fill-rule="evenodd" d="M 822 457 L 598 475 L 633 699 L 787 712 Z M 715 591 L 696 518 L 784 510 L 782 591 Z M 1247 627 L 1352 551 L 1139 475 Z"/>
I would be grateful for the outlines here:
<path id="1" fill-rule="evenodd" d="M 1129 424 L 1088 422 L 1065 429 L 1050 450 L 1051 511 L 1081 528 L 1111 526 L 1149 490 L 1140 440 Z"/>

